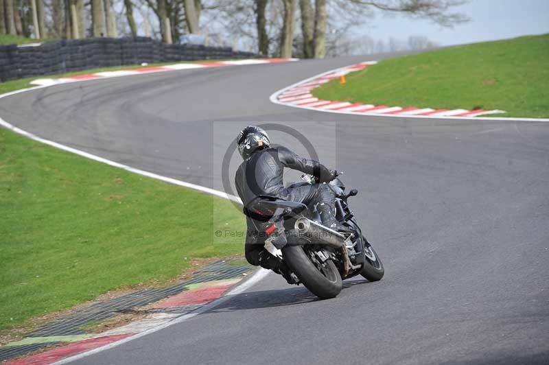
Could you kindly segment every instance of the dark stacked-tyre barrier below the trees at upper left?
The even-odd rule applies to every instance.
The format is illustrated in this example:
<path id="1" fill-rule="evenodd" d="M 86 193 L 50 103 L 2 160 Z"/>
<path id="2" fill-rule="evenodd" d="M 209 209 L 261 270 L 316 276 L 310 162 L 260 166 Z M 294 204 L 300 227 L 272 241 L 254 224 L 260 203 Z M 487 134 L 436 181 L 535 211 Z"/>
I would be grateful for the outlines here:
<path id="1" fill-rule="evenodd" d="M 38 46 L 0 46 L 0 81 L 97 67 L 215 58 L 253 58 L 230 47 L 165 45 L 146 37 L 57 40 Z"/>

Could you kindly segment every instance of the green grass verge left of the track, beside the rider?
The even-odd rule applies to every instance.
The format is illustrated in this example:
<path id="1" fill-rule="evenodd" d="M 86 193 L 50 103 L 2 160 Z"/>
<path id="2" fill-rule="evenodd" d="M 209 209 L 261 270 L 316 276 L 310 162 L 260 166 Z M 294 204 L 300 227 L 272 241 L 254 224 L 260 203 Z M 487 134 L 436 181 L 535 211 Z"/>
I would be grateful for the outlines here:
<path id="1" fill-rule="evenodd" d="M 0 128 L 0 329 L 243 252 L 226 200 L 132 174 Z M 225 236 L 225 235 L 224 235 Z"/>

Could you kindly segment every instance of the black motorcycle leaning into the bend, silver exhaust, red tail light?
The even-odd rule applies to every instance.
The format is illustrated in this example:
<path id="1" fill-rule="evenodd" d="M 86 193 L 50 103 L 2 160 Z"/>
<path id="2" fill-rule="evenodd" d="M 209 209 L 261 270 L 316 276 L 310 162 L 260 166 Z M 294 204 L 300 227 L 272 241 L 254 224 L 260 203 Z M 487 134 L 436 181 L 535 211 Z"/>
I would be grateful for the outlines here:
<path id="1" fill-rule="evenodd" d="M 294 284 L 303 283 L 322 299 L 336 297 L 344 279 L 360 274 L 369 281 L 378 281 L 385 272 L 347 202 L 358 190 L 345 193 L 341 174 L 336 172 L 336 178 L 328 184 L 336 193 L 335 217 L 347 228 L 345 232 L 323 226 L 316 208 L 299 202 L 258 196 L 244 209 L 259 235 L 265 238 L 265 248 L 292 270 Z M 314 176 L 307 174 L 301 180 L 290 187 L 316 182 Z"/>

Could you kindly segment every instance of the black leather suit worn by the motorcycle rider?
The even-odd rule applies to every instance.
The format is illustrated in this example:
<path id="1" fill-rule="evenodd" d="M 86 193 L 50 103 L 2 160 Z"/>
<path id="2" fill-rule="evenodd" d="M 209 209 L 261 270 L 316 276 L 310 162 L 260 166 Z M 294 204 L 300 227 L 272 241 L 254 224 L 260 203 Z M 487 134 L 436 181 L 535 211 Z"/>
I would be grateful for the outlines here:
<path id="1" fill-rule="evenodd" d="M 284 167 L 313 174 L 320 184 L 285 188 Z M 274 196 L 307 205 L 318 203 L 317 210 L 324 222 L 325 218 L 333 219 L 331 212 L 334 211 L 336 196 L 329 185 L 322 183 L 333 178 L 329 169 L 318 161 L 303 158 L 288 148 L 278 146 L 254 152 L 244 161 L 237 169 L 235 185 L 244 207 L 259 195 Z M 276 270 L 278 261 L 264 248 L 264 240 L 257 235 L 250 217 L 246 217 L 246 223 L 246 259 L 252 265 Z"/>

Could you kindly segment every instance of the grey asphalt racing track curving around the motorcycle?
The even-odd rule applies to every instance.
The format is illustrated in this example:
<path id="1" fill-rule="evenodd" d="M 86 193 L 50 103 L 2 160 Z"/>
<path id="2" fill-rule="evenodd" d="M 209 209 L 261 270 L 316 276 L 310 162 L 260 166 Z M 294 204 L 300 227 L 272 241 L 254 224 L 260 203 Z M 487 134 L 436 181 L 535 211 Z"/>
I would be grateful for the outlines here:
<path id="1" fill-rule="evenodd" d="M 329 301 L 270 275 L 74 364 L 548 364 L 548 123 L 269 102 L 304 78 L 383 57 L 173 71 L 0 99 L 3 119 L 40 137 L 217 189 L 239 128 L 291 126 L 360 190 L 353 208 L 386 266 L 382 281 L 346 281 Z M 288 135 L 272 139 L 304 152 Z"/>

